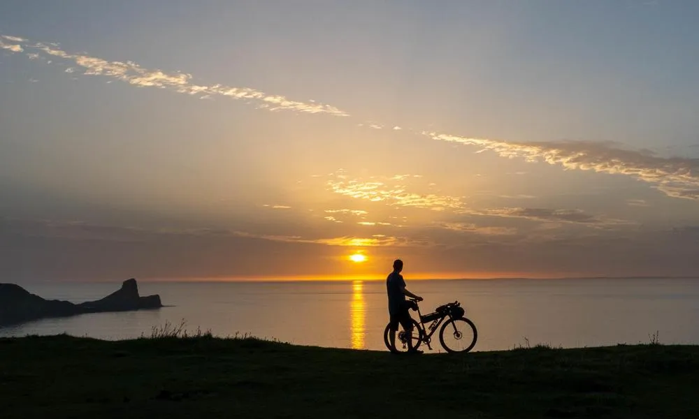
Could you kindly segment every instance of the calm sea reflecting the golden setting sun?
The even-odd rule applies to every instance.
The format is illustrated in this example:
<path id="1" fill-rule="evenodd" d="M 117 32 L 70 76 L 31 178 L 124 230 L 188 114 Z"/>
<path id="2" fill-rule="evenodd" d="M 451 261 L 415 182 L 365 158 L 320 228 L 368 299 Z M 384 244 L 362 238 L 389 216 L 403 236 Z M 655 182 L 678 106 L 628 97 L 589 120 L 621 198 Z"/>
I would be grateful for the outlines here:
<path id="1" fill-rule="evenodd" d="M 120 284 L 22 284 L 49 299 L 96 300 Z M 214 335 L 252 334 L 294 344 L 385 350 L 382 281 L 140 282 L 171 307 L 85 314 L 0 328 L 0 336 L 69 335 L 127 339 L 166 322 Z M 530 344 L 581 347 L 699 344 L 699 279 L 495 279 L 410 281 L 423 313 L 459 300 L 479 332 L 475 351 Z M 415 314 L 414 314 L 415 316 Z M 435 341 L 436 346 L 438 342 Z"/>

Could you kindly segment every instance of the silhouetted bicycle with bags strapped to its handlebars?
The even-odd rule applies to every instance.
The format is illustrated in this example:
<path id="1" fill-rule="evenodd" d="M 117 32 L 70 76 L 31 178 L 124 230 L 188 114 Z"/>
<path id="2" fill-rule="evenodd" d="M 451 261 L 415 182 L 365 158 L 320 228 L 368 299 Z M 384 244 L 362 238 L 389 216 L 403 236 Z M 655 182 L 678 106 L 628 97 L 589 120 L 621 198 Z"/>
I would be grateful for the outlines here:
<path id="1" fill-rule="evenodd" d="M 418 323 L 412 318 L 412 351 L 417 351 L 417 348 L 423 342 L 432 351 L 432 346 L 430 346 L 432 335 L 442 322 L 444 323 L 439 331 L 439 340 L 442 348 L 445 348 L 449 353 L 466 353 L 473 349 L 478 339 L 478 332 L 473 321 L 465 317 L 466 310 L 461 307 L 458 301 L 441 305 L 433 313 L 424 316 L 420 313 L 417 300 L 411 298 L 409 301 L 412 303 L 412 310 L 417 311 L 420 319 Z M 449 320 L 445 321 L 445 318 L 449 318 Z M 429 322 L 432 323 L 428 328 L 425 328 L 425 323 Z M 408 334 L 403 330 L 403 325 L 398 325 L 394 345 L 391 345 L 389 341 L 390 328 L 391 323 L 389 322 L 386 325 L 386 330 L 384 330 L 384 344 L 389 348 L 389 351 L 393 353 L 408 352 Z M 429 330 L 429 334 L 427 334 L 427 330 Z M 398 343 L 400 343 L 400 346 Z"/>

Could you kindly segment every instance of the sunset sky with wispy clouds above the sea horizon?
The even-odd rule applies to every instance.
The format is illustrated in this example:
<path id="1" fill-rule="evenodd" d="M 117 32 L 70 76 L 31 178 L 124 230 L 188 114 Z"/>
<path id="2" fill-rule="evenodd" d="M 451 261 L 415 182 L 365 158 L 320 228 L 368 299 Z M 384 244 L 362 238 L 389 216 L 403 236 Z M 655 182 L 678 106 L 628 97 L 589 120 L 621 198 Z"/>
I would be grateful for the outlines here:
<path id="1" fill-rule="evenodd" d="M 699 276 L 696 1 L 0 10 L 1 281 Z"/>

